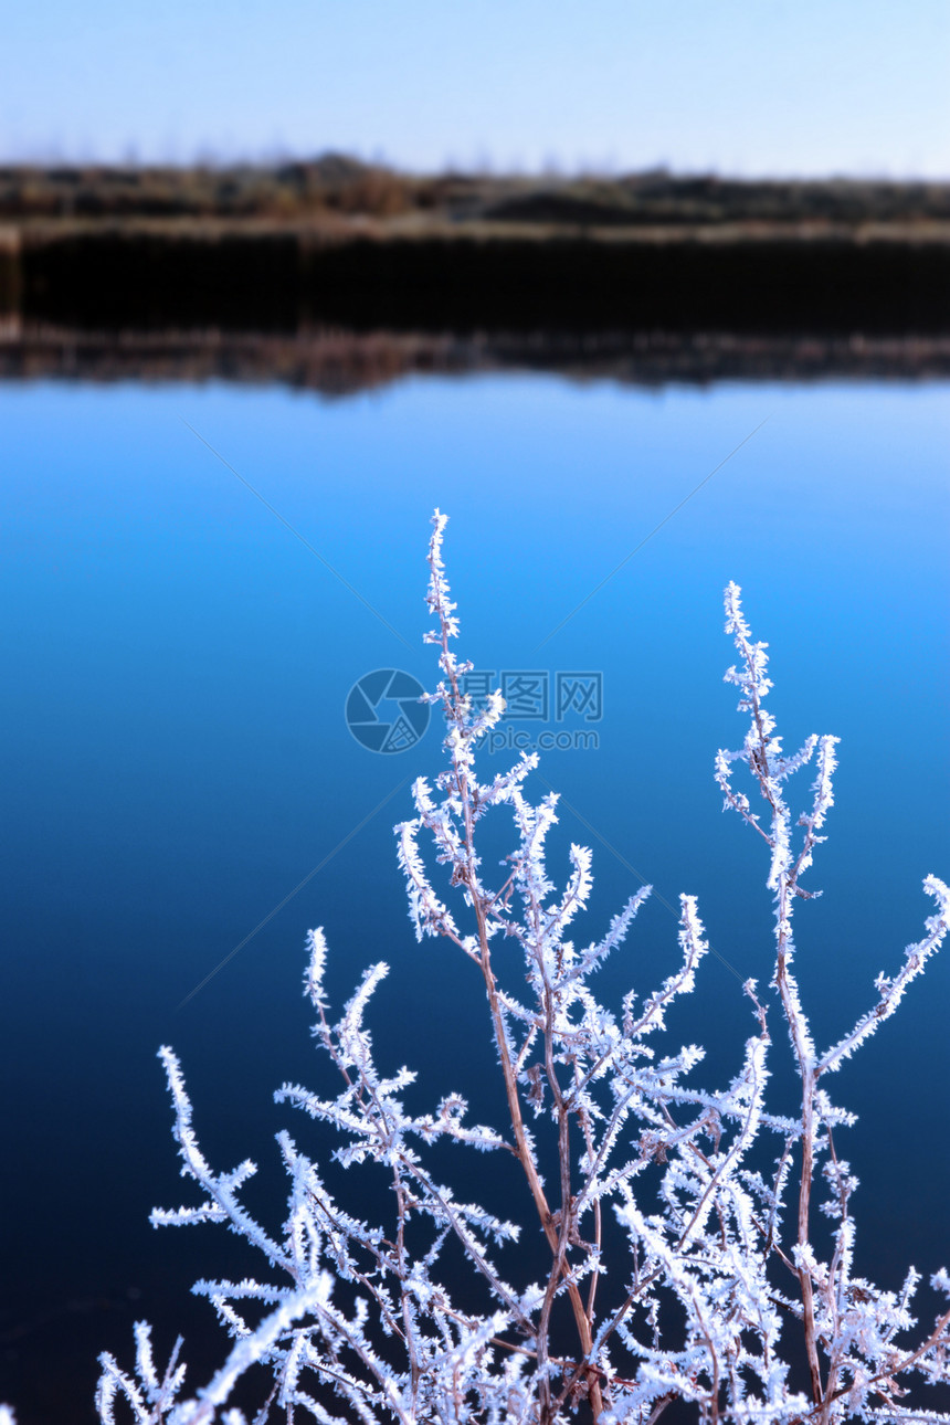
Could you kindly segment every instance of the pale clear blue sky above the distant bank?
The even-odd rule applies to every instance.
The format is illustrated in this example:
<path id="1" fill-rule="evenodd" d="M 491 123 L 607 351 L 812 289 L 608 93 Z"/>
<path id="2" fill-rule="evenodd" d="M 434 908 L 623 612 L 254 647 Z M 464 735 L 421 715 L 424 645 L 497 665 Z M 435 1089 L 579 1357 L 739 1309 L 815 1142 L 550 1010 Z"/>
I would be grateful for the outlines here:
<path id="1" fill-rule="evenodd" d="M 950 177 L 947 0 L 34 0 L 0 158 Z"/>

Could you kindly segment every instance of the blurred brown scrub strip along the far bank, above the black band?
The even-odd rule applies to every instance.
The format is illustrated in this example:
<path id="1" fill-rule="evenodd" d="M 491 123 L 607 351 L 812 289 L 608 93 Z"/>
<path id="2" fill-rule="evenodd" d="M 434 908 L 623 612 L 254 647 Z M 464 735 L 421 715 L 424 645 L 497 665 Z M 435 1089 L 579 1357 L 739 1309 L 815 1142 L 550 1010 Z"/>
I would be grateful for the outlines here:
<path id="1" fill-rule="evenodd" d="M 0 219 L 323 217 L 553 227 L 950 222 L 950 184 L 741 181 L 665 170 L 605 177 L 413 175 L 339 154 L 234 167 L 0 167 Z"/>

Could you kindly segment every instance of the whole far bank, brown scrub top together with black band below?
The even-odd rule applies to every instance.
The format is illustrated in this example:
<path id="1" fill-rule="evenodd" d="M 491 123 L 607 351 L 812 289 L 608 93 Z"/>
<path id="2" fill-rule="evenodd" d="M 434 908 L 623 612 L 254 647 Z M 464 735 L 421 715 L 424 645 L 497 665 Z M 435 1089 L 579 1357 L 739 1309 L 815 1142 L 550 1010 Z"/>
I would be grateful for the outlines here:
<path id="1" fill-rule="evenodd" d="M 87 329 L 950 332 L 950 184 L 0 168 L 0 311 Z"/>

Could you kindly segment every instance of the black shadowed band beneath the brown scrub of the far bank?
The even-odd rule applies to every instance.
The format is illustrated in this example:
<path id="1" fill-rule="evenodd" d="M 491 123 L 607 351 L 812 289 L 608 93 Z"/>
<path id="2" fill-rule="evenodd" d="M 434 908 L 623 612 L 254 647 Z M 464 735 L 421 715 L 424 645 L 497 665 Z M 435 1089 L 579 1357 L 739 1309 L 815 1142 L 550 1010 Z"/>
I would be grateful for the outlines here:
<path id="1" fill-rule="evenodd" d="M 0 311 L 88 328 L 950 332 L 950 237 L 20 228 Z"/>

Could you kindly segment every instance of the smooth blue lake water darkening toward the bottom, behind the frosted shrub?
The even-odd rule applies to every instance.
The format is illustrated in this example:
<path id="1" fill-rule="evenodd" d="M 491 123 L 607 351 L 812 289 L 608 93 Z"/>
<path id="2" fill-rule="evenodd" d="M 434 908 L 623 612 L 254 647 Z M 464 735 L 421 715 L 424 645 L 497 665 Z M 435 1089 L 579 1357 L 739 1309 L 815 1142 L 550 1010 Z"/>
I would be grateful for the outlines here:
<path id="1" fill-rule="evenodd" d="M 256 1157 L 262 1210 L 269 1191 L 279 1218 L 272 1134 L 310 1129 L 271 1092 L 322 1074 L 301 996 L 309 926 L 326 926 L 338 1002 L 366 963 L 392 963 L 380 1059 L 419 1064 L 430 1100 L 461 1087 L 500 1110 L 469 966 L 416 946 L 395 862 L 392 826 L 410 814 L 409 779 L 439 767 L 437 728 L 375 755 L 343 717 L 372 670 L 434 681 L 422 633 L 436 504 L 451 516 L 460 651 L 531 674 L 551 700 L 558 675 L 601 677 L 598 720 L 567 708 L 558 722 L 550 705 L 510 727 L 597 732 L 597 748 L 541 764 L 567 804 L 553 866 L 568 841 L 594 848 L 578 936 L 641 879 L 661 898 L 605 995 L 669 972 L 664 901 L 699 896 L 724 959 L 705 962 L 674 1033 L 708 1042 L 705 1082 L 735 1070 L 751 1032 L 739 980 L 771 973 L 765 848 L 712 781 L 716 748 L 745 731 L 722 683 L 722 587 L 742 584 L 786 745 L 842 738 L 808 881 L 825 895 L 799 909 L 798 939 L 819 1042 L 849 1027 L 923 933 L 923 876 L 950 876 L 947 423 L 939 383 L 433 378 L 335 402 L 0 388 L 0 1399 L 21 1425 L 90 1418 L 95 1351 L 131 1361 L 140 1315 L 162 1347 L 181 1324 L 187 1357 L 218 1358 L 211 1308 L 187 1291 L 232 1270 L 232 1247 L 147 1223 L 155 1204 L 194 1200 L 154 1054 L 175 1046 L 209 1154 Z M 944 952 L 833 1084 L 860 1114 L 845 1151 L 862 1178 L 862 1265 L 889 1287 L 909 1261 L 950 1263 L 949 1030 Z"/>

